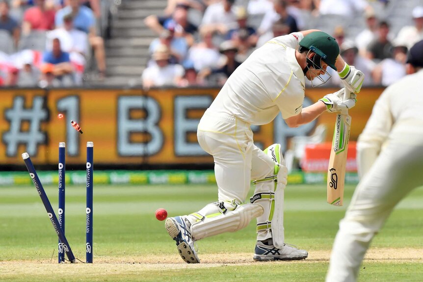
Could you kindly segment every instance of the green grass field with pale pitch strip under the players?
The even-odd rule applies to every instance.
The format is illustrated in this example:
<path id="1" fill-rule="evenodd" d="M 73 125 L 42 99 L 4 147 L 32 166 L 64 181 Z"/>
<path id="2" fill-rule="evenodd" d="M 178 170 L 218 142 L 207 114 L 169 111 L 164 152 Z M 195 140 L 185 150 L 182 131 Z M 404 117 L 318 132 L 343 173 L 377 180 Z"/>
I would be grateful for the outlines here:
<path id="1" fill-rule="evenodd" d="M 46 186 L 53 207 L 57 187 Z M 85 187 L 66 187 L 66 236 L 85 261 Z M 354 186 L 347 186 L 344 204 Z M 201 264 L 185 264 L 159 207 L 169 216 L 216 200 L 214 185 L 94 186 L 94 264 L 57 264 L 57 236 L 34 186 L 0 188 L 0 281 L 324 281 L 345 206 L 326 204 L 323 185 L 288 185 L 285 237 L 309 251 L 301 261 L 256 262 L 255 221 L 198 242 Z M 250 193 L 251 195 L 251 193 Z M 396 208 L 374 239 L 359 281 L 423 281 L 423 188 Z M 52 258 L 53 256 L 53 258 Z"/>

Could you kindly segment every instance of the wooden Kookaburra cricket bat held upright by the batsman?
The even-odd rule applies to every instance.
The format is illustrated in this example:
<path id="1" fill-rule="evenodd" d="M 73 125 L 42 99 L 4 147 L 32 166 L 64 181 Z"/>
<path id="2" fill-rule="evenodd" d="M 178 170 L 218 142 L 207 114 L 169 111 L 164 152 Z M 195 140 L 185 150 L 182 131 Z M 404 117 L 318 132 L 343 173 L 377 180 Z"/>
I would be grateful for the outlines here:
<path id="1" fill-rule="evenodd" d="M 351 92 L 345 89 L 344 101 L 349 99 L 350 95 Z M 346 153 L 350 127 L 351 117 L 348 115 L 348 109 L 345 109 L 336 116 L 330 151 L 327 172 L 327 202 L 331 205 L 341 206 L 344 200 Z"/>

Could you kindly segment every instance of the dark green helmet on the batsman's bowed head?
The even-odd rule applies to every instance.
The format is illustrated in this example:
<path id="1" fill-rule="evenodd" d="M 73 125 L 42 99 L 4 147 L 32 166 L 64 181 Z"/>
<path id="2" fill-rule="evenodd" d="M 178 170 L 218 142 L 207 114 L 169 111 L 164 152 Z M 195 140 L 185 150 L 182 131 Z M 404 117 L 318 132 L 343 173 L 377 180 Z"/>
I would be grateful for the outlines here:
<path id="1" fill-rule="evenodd" d="M 321 56 L 323 62 L 337 71 L 335 62 L 339 55 L 339 46 L 335 38 L 326 32 L 314 31 L 304 36 L 299 45 Z"/>

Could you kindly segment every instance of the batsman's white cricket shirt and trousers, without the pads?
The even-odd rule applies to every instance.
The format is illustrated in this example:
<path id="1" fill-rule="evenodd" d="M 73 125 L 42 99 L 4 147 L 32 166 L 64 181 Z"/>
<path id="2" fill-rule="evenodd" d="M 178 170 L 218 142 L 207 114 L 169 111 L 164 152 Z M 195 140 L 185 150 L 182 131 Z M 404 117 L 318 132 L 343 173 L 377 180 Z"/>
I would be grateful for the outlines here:
<path id="1" fill-rule="evenodd" d="M 250 126 L 270 123 L 279 112 L 284 119 L 301 112 L 305 77 L 295 50 L 302 38 L 276 37 L 254 51 L 201 118 L 198 142 L 213 155 L 219 202 L 244 203 L 251 180 L 273 174 L 275 163 L 254 145 Z"/>

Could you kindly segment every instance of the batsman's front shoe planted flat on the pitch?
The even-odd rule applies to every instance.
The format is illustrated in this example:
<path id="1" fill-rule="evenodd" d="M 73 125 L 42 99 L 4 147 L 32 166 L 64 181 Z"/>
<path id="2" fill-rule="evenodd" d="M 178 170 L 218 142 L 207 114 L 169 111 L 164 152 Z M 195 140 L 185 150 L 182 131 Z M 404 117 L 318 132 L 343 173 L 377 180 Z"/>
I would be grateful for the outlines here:
<path id="1" fill-rule="evenodd" d="M 262 241 L 256 244 L 254 260 L 294 260 L 304 259 L 308 256 L 306 250 L 299 250 L 295 246 L 284 244 L 282 248 L 272 245 L 265 245 Z"/>

